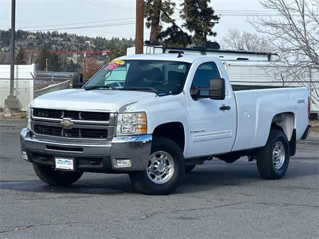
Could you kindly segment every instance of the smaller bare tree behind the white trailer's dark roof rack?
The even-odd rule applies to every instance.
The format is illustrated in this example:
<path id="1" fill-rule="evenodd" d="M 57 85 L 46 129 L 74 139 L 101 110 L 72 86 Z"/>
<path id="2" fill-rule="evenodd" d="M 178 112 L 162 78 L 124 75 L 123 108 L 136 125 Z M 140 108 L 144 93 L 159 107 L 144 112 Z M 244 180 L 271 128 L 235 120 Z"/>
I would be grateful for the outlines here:
<path id="1" fill-rule="evenodd" d="M 246 31 L 241 33 L 238 29 L 228 29 L 227 35 L 222 39 L 221 47 L 231 50 L 263 52 L 272 50 L 267 38 Z"/>

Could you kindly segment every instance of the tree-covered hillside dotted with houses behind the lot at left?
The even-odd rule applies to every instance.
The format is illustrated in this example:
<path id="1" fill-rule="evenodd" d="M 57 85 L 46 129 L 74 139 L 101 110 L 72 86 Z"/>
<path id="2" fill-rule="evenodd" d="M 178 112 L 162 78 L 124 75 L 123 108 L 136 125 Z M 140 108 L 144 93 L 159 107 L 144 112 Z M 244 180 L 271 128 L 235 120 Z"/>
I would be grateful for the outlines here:
<path id="1" fill-rule="evenodd" d="M 37 64 L 37 70 L 78 72 L 98 69 L 107 61 L 125 55 L 132 38 L 106 39 L 58 31 L 15 32 L 15 63 Z M 10 61 L 10 30 L 0 30 L 0 64 Z M 91 74 L 88 74 L 88 77 Z"/>

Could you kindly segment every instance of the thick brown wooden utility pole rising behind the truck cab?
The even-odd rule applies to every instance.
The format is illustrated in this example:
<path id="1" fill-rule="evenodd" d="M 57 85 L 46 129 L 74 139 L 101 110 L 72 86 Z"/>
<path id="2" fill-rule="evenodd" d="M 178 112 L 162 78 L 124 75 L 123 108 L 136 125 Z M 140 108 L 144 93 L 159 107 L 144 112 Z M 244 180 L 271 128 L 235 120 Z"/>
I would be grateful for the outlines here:
<path id="1" fill-rule="evenodd" d="M 143 54 L 144 0 L 136 0 L 135 54 Z"/>

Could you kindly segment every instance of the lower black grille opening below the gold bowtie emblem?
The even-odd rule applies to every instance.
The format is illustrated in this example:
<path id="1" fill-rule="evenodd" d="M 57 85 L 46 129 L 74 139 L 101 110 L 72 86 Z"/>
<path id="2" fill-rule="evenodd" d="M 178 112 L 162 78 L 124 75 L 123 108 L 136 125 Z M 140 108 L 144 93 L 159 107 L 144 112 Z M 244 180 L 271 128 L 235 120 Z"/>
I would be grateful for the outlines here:
<path id="1" fill-rule="evenodd" d="M 108 130 L 106 128 L 63 128 L 53 125 L 34 124 L 33 129 L 36 134 L 66 138 L 105 139 L 108 137 Z"/>

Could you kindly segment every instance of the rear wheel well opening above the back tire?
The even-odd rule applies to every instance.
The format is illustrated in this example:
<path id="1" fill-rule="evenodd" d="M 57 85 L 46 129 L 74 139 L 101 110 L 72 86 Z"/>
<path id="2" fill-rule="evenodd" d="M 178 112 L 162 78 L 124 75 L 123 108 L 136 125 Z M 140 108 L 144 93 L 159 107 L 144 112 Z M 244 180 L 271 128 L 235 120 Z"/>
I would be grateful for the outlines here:
<path id="1" fill-rule="evenodd" d="M 291 112 L 277 114 L 272 119 L 271 128 L 283 130 L 290 141 L 295 129 L 295 114 Z"/>

